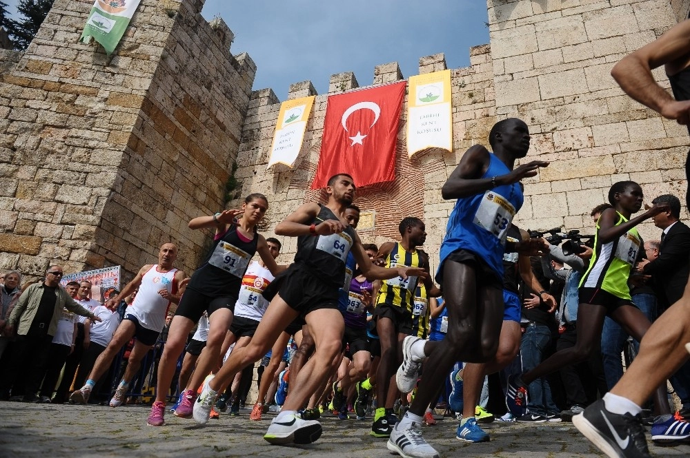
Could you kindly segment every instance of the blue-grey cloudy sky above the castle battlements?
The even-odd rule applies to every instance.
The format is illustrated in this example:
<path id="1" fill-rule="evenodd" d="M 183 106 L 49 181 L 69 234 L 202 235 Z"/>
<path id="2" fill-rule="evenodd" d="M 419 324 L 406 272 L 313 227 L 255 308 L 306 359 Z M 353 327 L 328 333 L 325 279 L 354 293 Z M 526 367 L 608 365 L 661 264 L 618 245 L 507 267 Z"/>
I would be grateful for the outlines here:
<path id="1" fill-rule="evenodd" d="M 18 0 L 4 1 L 14 12 Z M 226 21 L 233 54 L 257 63 L 254 88 L 272 87 L 281 100 L 304 80 L 324 94 L 340 72 L 370 85 L 375 65 L 393 61 L 408 77 L 438 52 L 449 68 L 464 67 L 469 47 L 489 42 L 486 2 L 477 0 L 206 0 L 201 14 Z"/>

